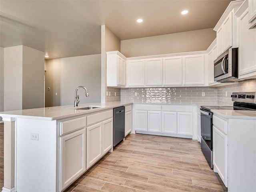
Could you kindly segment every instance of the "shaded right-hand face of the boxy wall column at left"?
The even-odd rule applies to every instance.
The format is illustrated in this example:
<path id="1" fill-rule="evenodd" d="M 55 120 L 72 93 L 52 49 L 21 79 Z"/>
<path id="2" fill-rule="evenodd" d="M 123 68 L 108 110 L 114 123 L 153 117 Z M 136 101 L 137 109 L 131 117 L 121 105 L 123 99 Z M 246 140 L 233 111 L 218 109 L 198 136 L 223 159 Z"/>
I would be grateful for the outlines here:
<path id="1" fill-rule="evenodd" d="M 23 46 L 22 109 L 44 107 L 44 52 Z"/>

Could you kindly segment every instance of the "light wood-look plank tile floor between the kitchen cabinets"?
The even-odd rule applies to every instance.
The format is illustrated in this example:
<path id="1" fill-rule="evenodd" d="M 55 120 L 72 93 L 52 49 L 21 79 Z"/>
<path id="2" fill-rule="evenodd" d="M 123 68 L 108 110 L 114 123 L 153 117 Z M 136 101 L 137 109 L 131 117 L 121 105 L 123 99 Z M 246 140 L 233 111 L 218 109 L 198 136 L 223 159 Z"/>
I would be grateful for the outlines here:
<path id="1" fill-rule="evenodd" d="M 226 192 L 196 140 L 128 135 L 65 192 Z"/>

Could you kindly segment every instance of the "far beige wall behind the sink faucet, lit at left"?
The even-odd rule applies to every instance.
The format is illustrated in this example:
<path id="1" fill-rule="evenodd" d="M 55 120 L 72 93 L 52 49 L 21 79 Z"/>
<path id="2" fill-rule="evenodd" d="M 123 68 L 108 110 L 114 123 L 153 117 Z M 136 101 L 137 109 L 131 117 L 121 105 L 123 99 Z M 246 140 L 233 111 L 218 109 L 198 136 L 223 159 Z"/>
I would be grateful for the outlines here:
<path id="1" fill-rule="evenodd" d="M 90 94 L 86 97 L 83 89 L 78 90 L 80 104 L 100 102 L 100 76 L 100 54 L 46 60 L 45 106 L 73 105 L 78 86 L 85 86 Z"/>

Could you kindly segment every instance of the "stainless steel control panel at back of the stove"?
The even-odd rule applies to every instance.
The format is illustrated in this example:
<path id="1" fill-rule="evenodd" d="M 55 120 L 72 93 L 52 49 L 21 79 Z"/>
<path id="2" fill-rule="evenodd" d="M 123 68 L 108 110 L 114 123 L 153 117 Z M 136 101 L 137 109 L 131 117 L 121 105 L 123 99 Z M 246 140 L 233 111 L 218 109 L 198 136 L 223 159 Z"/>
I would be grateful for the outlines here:
<path id="1" fill-rule="evenodd" d="M 256 92 L 233 92 L 232 101 L 256 104 Z"/>

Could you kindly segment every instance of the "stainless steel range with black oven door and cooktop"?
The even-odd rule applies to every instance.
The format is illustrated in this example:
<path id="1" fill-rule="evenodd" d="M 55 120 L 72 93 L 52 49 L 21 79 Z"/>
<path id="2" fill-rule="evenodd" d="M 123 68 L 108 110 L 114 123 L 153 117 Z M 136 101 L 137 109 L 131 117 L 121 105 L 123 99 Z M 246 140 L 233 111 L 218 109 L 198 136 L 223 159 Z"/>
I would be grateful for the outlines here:
<path id="1" fill-rule="evenodd" d="M 210 165 L 212 164 L 212 110 L 256 110 L 256 92 L 233 92 L 233 106 L 201 106 L 201 149 Z"/>

